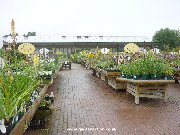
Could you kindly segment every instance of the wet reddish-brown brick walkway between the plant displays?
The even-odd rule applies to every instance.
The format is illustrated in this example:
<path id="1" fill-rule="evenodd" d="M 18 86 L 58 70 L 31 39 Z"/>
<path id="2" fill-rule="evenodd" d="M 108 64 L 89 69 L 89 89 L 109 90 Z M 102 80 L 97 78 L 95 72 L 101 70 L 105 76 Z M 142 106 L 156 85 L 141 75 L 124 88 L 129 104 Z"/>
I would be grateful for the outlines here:
<path id="1" fill-rule="evenodd" d="M 140 98 L 116 92 L 90 70 L 73 64 L 59 72 L 49 135 L 180 135 L 180 87 L 170 98 Z"/>

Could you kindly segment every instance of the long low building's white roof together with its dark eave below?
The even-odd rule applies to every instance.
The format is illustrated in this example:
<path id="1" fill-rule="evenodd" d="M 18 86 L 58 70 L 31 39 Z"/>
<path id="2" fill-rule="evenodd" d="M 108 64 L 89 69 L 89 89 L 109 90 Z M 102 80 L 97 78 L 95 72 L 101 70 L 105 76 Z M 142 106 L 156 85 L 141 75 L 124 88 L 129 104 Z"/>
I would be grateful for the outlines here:
<path id="1" fill-rule="evenodd" d="M 5 46 L 12 40 L 8 36 Z M 117 48 L 124 47 L 128 43 L 135 43 L 140 47 L 152 46 L 155 43 L 149 42 L 144 36 L 17 36 L 16 43 L 31 43 L 35 47 L 46 48 Z"/>

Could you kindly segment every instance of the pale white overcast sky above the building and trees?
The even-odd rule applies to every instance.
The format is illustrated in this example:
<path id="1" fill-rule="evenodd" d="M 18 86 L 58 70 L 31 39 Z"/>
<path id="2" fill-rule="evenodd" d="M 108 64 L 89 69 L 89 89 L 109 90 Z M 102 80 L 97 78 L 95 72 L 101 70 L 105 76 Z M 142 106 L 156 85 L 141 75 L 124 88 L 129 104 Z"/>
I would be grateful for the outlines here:
<path id="1" fill-rule="evenodd" d="M 106 35 L 152 38 L 180 29 L 180 0 L 0 0 L 0 35 L 11 19 L 20 35 Z"/>

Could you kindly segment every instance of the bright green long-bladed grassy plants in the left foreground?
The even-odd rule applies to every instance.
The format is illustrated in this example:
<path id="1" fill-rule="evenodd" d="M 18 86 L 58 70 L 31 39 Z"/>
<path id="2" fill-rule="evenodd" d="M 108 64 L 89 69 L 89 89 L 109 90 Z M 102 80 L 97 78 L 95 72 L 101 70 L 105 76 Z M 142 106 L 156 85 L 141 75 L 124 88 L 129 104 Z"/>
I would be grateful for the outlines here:
<path id="1" fill-rule="evenodd" d="M 0 119 L 9 120 L 16 115 L 24 102 L 30 100 L 31 93 L 39 85 L 37 70 L 27 67 L 14 74 L 9 69 L 0 72 Z"/>

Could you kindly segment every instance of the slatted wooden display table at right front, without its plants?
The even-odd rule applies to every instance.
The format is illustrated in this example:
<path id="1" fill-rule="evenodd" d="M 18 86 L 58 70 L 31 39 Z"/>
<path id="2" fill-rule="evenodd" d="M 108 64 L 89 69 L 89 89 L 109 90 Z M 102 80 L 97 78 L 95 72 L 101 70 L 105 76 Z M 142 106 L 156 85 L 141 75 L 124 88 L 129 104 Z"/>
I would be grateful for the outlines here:
<path id="1" fill-rule="evenodd" d="M 135 96 L 135 103 L 139 104 L 140 97 L 158 98 L 167 101 L 168 84 L 175 83 L 174 80 L 133 80 L 127 79 L 127 91 Z"/>

